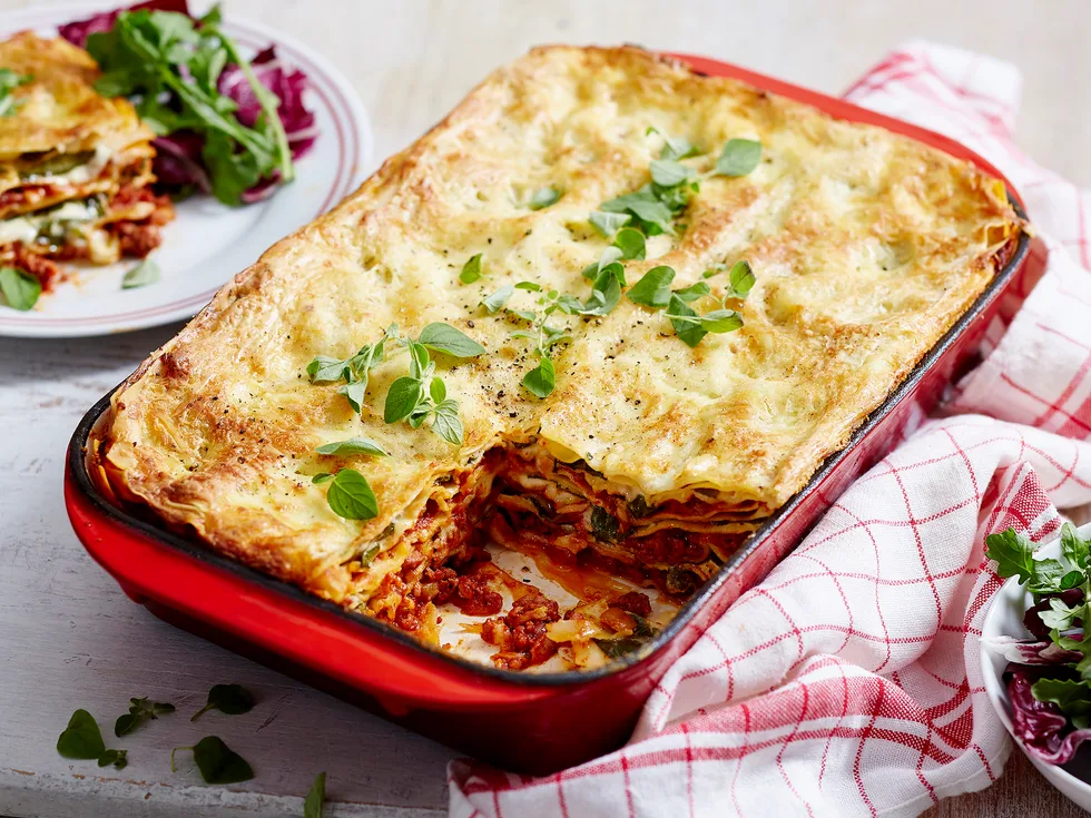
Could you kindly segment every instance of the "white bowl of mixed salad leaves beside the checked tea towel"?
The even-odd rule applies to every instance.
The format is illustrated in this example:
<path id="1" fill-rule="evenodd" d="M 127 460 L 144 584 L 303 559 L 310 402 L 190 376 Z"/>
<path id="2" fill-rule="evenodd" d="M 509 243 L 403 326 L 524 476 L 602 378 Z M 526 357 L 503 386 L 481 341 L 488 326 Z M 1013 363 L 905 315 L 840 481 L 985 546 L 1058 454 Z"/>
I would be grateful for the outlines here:
<path id="1" fill-rule="evenodd" d="M 1011 530 L 986 543 L 1009 579 L 982 627 L 985 692 L 1038 771 L 1091 811 L 1091 524 L 1065 523 L 1038 551 Z"/>

